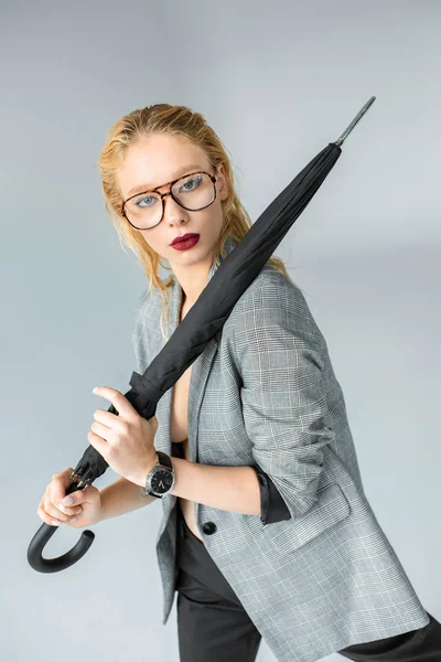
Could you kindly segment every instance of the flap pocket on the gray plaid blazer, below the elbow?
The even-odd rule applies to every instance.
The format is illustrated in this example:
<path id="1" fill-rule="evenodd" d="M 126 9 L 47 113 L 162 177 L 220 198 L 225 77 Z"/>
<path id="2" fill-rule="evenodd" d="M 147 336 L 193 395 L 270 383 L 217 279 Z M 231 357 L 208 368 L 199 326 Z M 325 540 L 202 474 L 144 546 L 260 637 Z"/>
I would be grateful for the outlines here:
<path id="1" fill-rule="evenodd" d="M 271 532 L 271 542 L 278 552 L 294 552 L 349 515 L 349 502 L 338 483 L 319 490 L 318 496 L 305 515 L 283 522 L 280 533 Z"/>

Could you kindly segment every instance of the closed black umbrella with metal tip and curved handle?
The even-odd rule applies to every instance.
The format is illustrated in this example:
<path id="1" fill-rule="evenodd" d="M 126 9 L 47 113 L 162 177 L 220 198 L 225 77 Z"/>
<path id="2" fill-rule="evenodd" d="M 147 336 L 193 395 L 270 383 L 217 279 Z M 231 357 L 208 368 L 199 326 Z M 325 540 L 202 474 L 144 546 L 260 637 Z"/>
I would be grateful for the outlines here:
<path id="1" fill-rule="evenodd" d="M 243 241 L 223 260 L 197 301 L 161 352 L 146 372 L 133 372 L 131 389 L 125 397 L 146 419 L 154 416 L 157 404 L 172 388 L 186 369 L 202 354 L 208 342 L 228 319 L 235 303 L 262 270 L 295 218 L 319 190 L 342 153 L 341 146 L 348 134 L 374 103 L 370 97 L 358 115 L 335 142 L 330 142 L 301 172 L 279 193 L 249 228 Z M 114 405 L 108 412 L 118 415 Z M 108 468 L 103 456 L 88 446 L 71 474 L 71 494 L 90 485 Z M 76 545 L 58 558 L 44 558 L 43 548 L 57 526 L 43 523 L 28 547 L 28 560 L 40 573 L 63 570 L 84 556 L 94 542 L 95 534 L 83 531 Z"/>

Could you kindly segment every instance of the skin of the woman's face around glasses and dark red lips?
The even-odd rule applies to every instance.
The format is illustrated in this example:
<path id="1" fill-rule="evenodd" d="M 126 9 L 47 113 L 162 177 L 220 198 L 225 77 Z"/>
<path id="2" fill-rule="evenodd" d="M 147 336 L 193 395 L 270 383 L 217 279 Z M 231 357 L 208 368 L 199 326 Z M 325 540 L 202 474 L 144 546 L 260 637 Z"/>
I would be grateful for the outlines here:
<path id="1" fill-rule="evenodd" d="M 127 200 L 135 193 L 157 186 L 161 186 L 159 192 L 165 193 L 170 190 L 166 182 L 197 170 L 216 175 L 216 199 L 209 206 L 195 212 L 184 210 L 168 195 L 162 221 L 149 229 L 136 231 L 153 250 L 169 260 L 176 276 L 196 263 L 204 263 L 208 268 L 212 264 L 213 248 L 224 221 L 220 202 L 228 194 L 223 167 L 216 172 L 204 151 L 186 138 L 154 134 L 140 138 L 128 149 L 117 173 L 123 200 Z M 197 233 L 200 239 L 187 250 L 176 250 L 170 244 L 176 235 L 185 233 Z"/>

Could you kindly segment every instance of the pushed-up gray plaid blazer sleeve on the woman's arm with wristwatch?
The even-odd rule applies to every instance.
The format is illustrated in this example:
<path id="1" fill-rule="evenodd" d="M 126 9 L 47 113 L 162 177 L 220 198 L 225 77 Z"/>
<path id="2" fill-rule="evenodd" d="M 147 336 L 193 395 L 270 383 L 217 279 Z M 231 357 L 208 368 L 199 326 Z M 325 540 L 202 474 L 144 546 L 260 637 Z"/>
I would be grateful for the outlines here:
<path id="1" fill-rule="evenodd" d="M 335 439 L 323 389 L 325 340 L 301 290 L 278 273 L 243 296 L 234 330 L 255 463 L 300 517 L 318 500 L 321 449 Z"/>

